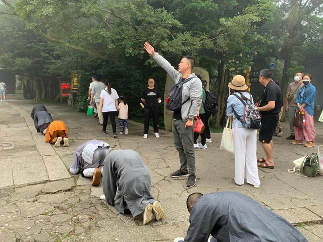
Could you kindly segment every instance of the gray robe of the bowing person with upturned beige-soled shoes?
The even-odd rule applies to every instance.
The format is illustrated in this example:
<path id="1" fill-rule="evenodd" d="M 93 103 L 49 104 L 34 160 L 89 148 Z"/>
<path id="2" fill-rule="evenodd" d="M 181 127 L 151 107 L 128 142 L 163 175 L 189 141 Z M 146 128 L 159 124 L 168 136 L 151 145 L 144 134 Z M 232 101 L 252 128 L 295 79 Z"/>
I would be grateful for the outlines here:
<path id="1" fill-rule="evenodd" d="M 149 170 L 137 152 L 112 150 L 105 158 L 102 183 L 105 201 L 120 213 L 124 213 L 127 205 L 136 217 L 148 203 L 154 203 L 150 183 Z"/>

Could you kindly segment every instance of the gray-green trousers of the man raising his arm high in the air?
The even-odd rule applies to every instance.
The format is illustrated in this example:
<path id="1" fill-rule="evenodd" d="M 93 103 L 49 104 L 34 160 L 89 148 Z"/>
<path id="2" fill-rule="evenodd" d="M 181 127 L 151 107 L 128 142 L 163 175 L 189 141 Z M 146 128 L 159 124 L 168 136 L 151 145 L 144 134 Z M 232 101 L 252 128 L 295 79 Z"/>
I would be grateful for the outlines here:
<path id="1" fill-rule="evenodd" d="M 180 156 L 181 169 L 195 174 L 194 122 L 191 128 L 185 128 L 185 123 L 173 119 L 174 145 Z"/>

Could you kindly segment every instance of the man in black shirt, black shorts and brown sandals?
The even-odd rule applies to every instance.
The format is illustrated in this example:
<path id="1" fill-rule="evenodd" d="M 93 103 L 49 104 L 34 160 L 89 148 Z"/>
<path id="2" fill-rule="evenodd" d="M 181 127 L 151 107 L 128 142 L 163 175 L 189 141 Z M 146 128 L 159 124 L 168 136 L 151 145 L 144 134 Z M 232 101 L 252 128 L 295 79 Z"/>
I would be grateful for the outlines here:
<path id="1" fill-rule="evenodd" d="M 273 134 L 275 132 L 279 112 L 283 103 L 283 95 L 280 87 L 273 81 L 271 70 L 264 69 L 260 71 L 259 82 L 264 86 L 262 97 L 258 105 L 261 113 L 261 128 L 259 131 L 259 141 L 262 149 L 266 153 L 265 158 L 257 159 L 258 167 L 274 168 L 273 158 Z"/>

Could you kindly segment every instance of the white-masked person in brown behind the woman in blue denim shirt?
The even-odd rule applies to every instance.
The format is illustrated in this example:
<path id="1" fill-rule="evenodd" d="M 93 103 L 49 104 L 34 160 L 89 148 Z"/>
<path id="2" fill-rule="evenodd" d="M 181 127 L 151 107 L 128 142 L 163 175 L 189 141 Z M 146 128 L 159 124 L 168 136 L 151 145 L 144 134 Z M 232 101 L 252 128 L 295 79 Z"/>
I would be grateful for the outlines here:
<path id="1" fill-rule="evenodd" d="M 286 140 L 295 140 L 294 133 L 294 119 L 295 113 L 297 109 L 297 105 L 295 104 L 295 99 L 297 95 L 298 89 L 303 86 L 303 73 L 296 73 L 294 77 L 294 82 L 290 83 L 288 86 L 288 92 L 285 99 L 285 108 L 286 112 L 288 112 L 288 121 L 289 121 L 289 129 L 291 135 L 286 138 Z"/>

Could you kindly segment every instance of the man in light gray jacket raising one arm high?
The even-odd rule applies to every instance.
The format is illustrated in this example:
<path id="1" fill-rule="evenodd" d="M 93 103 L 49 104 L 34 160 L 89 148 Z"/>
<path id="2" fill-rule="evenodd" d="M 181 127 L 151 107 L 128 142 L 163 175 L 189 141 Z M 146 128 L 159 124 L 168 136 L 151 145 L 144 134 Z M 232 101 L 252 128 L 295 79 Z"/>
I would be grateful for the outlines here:
<path id="1" fill-rule="evenodd" d="M 179 152 L 181 166 L 180 169 L 171 173 L 172 178 L 189 176 L 186 186 L 194 187 L 195 175 L 195 153 L 194 153 L 194 118 L 198 115 L 201 105 L 202 83 L 192 73 L 194 59 L 192 56 L 184 56 L 178 64 L 178 71 L 161 55 L 155 52 L 148 43 L 144 44 L 145 50 L 174 80 L 175 83 L 184 82 L 187 78 L 190 81 L 183 83 L 182 87 L 182 108 L 173 113 L 173 135 L 174 144 Z M 186 101 L 189 99 L 189 101 Z"/>

